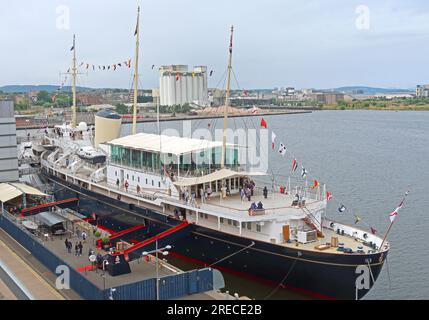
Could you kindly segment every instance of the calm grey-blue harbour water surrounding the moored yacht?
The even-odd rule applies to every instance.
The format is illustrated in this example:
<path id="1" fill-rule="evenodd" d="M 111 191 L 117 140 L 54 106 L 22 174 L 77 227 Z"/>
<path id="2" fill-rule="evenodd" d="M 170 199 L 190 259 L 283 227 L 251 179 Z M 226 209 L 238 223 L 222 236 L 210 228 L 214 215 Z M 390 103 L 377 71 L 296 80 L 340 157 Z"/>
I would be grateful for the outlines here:
<path id="1" fill-rule="evenodd" d="M 427 299 L 429 112 L 323 111 L 264 118 L 278 141 L 288 147 L 284 158 L 277 151 L 269 152 L 270 172 L 277 179 L 284 177 L 286 184 L 293 154 L 334 195 L 335 201 L 328 206 L 328 216 L 334 220 L 353 224 L 357 215 L 362 227 L 384 234 L 389 213 L 410 190 L 389 236 L 387 264 L 366 299 Z M 260 117 L 230 119 L 230 127 L 258 128 L 259 122 Z M 193 130 L 208 128 L 209 123 L 211 128 L 222 126 L 222 120 L 198 120 L 193 122 Z M 180 131 L 182 123 L 162 123 L 161 130 L 166 128 Z M 139 124 L 138 130 L 157 132 L 154 123 Z M 123 134 L 130 131 L 129 125 L 124 126 Z M 343 214 L 337 211 L 339 203 L 348 208 Z M 182 268 L 195 267 L 172 262 Z M 303 298 L 232 275 L 225 278 L 227 290 L 250 298 Z"/>

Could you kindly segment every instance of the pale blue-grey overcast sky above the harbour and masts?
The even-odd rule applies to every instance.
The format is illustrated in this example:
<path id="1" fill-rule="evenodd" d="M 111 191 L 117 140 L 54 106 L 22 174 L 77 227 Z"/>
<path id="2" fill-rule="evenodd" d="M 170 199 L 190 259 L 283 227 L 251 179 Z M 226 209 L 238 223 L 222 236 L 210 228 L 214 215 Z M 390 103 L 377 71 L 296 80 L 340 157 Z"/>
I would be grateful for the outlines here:
<path id="1" fill-rule="evenodd" d="M 207 65 L 209 86 L 222 87 L 232 24 L 233 89 L 429 82 L 422 0 L 0 0 L 0 86 L 59 85 L 73 34 L 79 64 L 134 58 L 138 5 L 141 88 L 158 87 L 157 67 L 169 64 Z M 78 82 L 131 88 L 132 74 L 85 72 Z"/>

